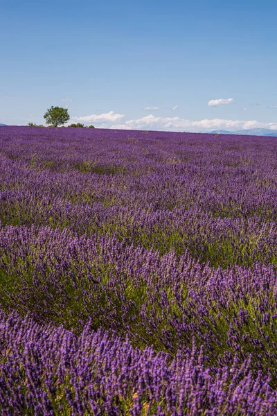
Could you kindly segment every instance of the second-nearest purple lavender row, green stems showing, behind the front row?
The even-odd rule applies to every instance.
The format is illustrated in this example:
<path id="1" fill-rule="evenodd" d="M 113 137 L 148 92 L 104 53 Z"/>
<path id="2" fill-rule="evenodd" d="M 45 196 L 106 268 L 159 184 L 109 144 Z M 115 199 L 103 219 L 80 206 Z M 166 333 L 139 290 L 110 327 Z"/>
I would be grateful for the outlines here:
<path id="1" fill-rule="evenodd" d="M 128 334 L 174 357 L 193 339 L 211 365 L 240 363 L 277 385 L 277 281 L 273 266 L 222 270 L 186 253 L 159 256 L 108 236 L 74 237 L 51 228 L 0 232 L 3 309 L 31 313 L 78 333 L 87 322 Z"/>

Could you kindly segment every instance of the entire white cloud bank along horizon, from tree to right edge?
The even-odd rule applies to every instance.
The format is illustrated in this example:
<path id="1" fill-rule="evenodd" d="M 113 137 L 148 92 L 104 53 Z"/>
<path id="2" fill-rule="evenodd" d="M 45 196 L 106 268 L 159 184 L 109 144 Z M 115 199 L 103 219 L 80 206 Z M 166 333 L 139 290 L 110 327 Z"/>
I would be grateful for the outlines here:
<path id="1" fill-rule="evenodd" d="M 250 128 L 277 129 L 277 122 L 263 123 L 256 120 L 229 120 L 229 119 L 203 119 L 188 120 L 179 116 L 165 117 L 149 114 L 139 119 L 122 121 L 125 114 L 116 114 L 110 111 L 103 114 L 91 114 L 89 116 L 73 117 L 70 123 L 83 121 L 95 123 L 98 128 L 113 128 L 123 130 L 168 130 L 168 131 L 194 131 L 205 132 L 209 130 L 247 130 Z"/>

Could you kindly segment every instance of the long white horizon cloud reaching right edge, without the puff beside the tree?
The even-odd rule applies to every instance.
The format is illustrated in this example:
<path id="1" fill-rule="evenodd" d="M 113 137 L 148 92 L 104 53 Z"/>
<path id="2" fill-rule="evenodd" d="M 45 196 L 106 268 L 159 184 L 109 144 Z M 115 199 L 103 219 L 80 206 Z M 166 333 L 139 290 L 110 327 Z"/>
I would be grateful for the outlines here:
<path id="1" fill-rule="evenodd" d="M 276 123 L 260 123 L 256 120 L 241 121 L 228 119 L 203 119 L 187 120 L 181 117 L 157 117 L 153 114 L 141 117 L 141 119 L 132 119 L 125 123 L 116 123 L 110 128 L 124 130 L 168 130 L 168 131 L 209 131 L 209 130 L 243 130 L 248 128 L 269 128 L 277 129 Z"/>

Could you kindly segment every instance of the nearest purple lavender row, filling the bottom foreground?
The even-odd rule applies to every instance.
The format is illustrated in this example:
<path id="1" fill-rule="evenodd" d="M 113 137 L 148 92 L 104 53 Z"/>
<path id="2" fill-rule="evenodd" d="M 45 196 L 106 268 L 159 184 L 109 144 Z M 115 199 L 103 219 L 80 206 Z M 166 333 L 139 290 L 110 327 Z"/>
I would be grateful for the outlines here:
<path id="1" fill-rule="evenodd" d="M 170 360 L 88 324 L 80 336 L 0 314 L 3 416 L 276 415 L 277 395 L 251 359 L 206 367 L 195 345 Z"/>

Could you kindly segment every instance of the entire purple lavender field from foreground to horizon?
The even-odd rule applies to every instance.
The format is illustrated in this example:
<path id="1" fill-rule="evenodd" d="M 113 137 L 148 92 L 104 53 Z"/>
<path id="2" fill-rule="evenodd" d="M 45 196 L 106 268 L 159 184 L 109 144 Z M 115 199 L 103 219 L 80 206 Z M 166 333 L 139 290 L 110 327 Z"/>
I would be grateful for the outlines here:
<path id="1" fill-rule="evenodd" d="M 0 415 L 277 414 L 277 138 L 0 128 Z"/>

